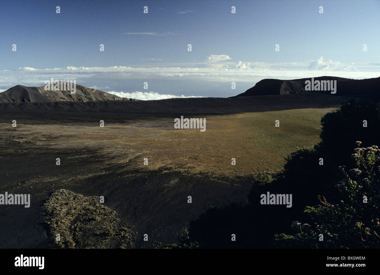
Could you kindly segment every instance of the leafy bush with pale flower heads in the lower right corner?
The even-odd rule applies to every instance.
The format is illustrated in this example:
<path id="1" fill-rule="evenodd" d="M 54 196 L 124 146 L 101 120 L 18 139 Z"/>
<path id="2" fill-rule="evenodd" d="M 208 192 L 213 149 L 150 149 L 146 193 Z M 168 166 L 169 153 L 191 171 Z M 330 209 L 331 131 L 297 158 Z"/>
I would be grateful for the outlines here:
<path id="1" fill-rule="evenodd" d="M 275 247 L 380 248 L 380 149 L 356 148 L 351 157 L 356 168 L 339 167 L 344 176 L 335 185 L 342 194 L 340 203 L 334 205 L 319 196 L 320 204 L 305 209 L 313 225 L 293 222 L 296 234 L 276 234 Z"/>

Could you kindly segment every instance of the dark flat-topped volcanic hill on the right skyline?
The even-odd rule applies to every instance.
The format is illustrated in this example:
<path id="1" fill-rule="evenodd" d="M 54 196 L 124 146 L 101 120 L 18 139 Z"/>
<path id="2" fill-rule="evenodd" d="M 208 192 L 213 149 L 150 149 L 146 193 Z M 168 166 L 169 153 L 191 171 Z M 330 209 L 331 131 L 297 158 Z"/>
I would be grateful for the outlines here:
<path id="1" fill-rule="evenodd" d="M 305 92 L 305 81 L 311 78 L 280 80 L 263 79 L 255 86 L 238 96 L 262 96 L 269 94 L 293 94 Z M 337 90 L 335 96 L 367 96 L 380 94 L 380 77 L 370 79 L 348 79 L 333 76 L 314 77 L 314 80 L 336 80 Z M 315 91 L 317 93 L 331 94 L 330 91 Z"/>

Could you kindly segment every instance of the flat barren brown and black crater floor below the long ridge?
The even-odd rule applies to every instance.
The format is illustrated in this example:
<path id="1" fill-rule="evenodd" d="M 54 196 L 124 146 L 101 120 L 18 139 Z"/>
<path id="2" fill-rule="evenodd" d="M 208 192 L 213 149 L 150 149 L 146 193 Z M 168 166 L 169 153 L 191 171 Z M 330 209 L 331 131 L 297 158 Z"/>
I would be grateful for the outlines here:
<path id="1" fill-rule="evenodd" d="M 0 208 L 0 247 L 54 247 L 57 232 L 52 228 L 59 228 L 59 219 L 54 211 L 47 215 L 43 205 L 60 189 L 104 196 L 103 205 L 109 209 L 96 212 L 87 207 L 87 212 L 81 212 L 84 208 L 68 205 L 65 196 L 59 201 L 55 194 L 55 205 L 60 211 L 67 207 L 73 221 L 63 237 L 82 245 L 77 247 L 157 248 L 178 242 L 186 235 L 190 220 L 209 207 L 247 201 L 254 174 L 277 173 L 284 157 L 298 147 L 317 143 L 321 116 L 335 109 L 192 116 L 206 118 L 205 132 L 174 129 L 174 115 L 94 112 L 71 119 L 70 112 L 40 117 L 8 112 L 0 124 L 1 193 L 30 193 L 31 206 Z M 17 120 L 16 128 L 11 127 L 11 121 L 5 123 L 12 116 Z M 100 127 L 100 119 L 105 120 L 105 127 Z M 280 121 L 278 128 L 276 119 Z M 56 165 L 56 158 L 60 158 L 60 165 Z M 148 165 L 143 164 L 144 158 Z M 231 165 L 231 158 L 236 159 L 236 165 Z M 192 196 L 191 204 L 188 196 Z M 123 230 L 128 231 L 128 239 L 114 232 L 116 236 L 108 236 L 112 241 L 104 236 L 98 243 L 93 237 L 89 242 L 78 241 L 75 228 L 87 228 L 90 232 L 86 234 L 91 236 L 98 233 L 91 231 L 87 220 L 82 225 L 75 221 L 83 215 L 94 221 L 106 219 L 108 211 L 116 212 L 117 223 L 101 220 L 102 228 L 113 228 L 112 232 L 127 228 Z M 55 215 L 59 217 L 59 210 Z M 54 221 L 57 225 L 52 226 Z M 149 241 L 142 240 L 144 234 Z"/>

